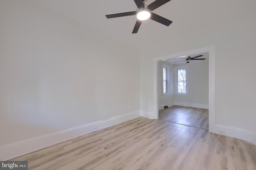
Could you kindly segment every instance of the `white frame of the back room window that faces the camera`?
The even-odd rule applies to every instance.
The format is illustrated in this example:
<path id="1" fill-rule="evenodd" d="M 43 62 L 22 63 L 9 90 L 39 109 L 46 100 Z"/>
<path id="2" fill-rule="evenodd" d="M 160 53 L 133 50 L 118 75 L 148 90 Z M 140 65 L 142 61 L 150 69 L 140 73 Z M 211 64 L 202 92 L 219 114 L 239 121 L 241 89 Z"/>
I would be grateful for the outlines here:
<path id="1" fill-rule="evenodd" d="M 186 93 L 178 93 L 178 70 L 186 69 Z M 174 95 L 188 96 L 188 86 L 189 86 L 189 76 L 188 76 L 188 66 L 176 66 L 174 67 Z"/>

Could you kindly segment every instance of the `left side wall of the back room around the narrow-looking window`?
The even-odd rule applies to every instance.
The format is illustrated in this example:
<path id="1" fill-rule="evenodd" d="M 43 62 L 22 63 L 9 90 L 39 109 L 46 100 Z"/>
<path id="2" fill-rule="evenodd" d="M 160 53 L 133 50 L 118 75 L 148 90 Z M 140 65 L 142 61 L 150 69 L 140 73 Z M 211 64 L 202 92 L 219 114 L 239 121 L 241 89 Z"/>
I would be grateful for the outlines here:
<path id="1" fill-rule="evenodd" d="M 163 77 L 163 66 L 167 65 L 169 67 L 169 92 L 163 95 L 162 90 L 162 77 Z M 173 88 L 173 64 L 167 61 L 158 62 L 158 109 L 163 109 L 164 106 L 174 105 L 174 88 Z"/>

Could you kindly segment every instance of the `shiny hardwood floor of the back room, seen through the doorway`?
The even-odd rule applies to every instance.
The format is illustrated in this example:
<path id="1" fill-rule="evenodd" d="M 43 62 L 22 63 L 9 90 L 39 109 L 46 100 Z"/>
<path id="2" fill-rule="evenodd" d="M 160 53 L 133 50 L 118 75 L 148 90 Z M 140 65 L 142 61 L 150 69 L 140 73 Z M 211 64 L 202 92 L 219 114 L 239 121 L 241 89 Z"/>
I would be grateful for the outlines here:
<path id="1" fill-rule="evenodd" d="M 159 110 L 159 119 L 209 130 L 209 110 L 196 107 L 171 106 Z"/>

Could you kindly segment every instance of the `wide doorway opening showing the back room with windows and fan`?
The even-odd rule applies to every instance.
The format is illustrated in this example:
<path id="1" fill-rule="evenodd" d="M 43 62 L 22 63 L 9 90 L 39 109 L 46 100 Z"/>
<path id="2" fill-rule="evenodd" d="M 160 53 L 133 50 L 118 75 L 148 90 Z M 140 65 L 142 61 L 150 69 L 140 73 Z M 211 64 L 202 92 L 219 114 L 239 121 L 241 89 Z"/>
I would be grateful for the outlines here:
<path id="1" fill-rule="evenodd" d="M 208 61 L 209 53 L 158 61 L 160 120 L 209 130 Z"/>

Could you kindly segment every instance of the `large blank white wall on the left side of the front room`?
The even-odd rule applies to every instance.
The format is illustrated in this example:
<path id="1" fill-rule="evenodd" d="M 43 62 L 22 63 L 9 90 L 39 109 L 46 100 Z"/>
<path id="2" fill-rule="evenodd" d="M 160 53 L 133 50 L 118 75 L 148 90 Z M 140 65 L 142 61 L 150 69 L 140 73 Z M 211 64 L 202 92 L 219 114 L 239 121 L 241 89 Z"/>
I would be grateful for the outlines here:
<path id="1" fill-rule="evenodd" d="M 0 23 L 0 146 L 140 110 L 135 49 L 27 0 Z"/>

